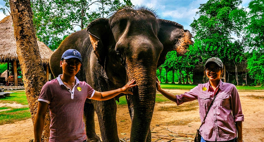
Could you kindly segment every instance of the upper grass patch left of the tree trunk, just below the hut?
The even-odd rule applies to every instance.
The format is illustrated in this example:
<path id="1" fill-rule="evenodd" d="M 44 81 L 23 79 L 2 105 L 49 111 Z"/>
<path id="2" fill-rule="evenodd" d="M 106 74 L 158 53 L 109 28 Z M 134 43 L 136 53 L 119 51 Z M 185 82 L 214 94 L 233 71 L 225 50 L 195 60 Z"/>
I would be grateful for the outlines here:
<path id="1" fill-rule="evenodd" d="M 10 91 L 11 92 L 11 91 Z M 10 94 L 9 97 L 0 98 L 0 103 L 14 103 L 27 105 L 27 97 L 25 91 L 17 91 Z"/>

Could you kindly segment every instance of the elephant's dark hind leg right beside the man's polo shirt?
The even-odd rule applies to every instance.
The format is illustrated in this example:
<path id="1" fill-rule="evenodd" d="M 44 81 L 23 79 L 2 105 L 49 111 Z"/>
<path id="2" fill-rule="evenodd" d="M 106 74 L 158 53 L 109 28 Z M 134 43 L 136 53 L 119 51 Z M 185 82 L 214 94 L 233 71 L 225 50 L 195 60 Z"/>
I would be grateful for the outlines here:
<path id="1" fill-rule="evenodd" d="M 95 133 L 93 104 L 84 103 L 83 121 L 85 123 L 87 142 L 101 142 Z"/>

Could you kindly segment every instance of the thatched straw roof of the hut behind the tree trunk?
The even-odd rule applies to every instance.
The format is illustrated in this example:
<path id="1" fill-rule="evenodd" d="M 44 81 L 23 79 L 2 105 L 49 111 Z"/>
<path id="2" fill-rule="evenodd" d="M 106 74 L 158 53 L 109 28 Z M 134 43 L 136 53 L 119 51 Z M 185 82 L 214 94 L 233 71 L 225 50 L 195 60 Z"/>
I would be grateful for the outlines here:
<path id="1" fill-rule="evenodd" d="M 43 42 L 38 41 L 38 46 L 42 63 L 47 64 L 53 52 Z M 12 17 L 9 15 L 0 21 L 0 61 L 14 59 L 18 60 L 17 45 Z"/>

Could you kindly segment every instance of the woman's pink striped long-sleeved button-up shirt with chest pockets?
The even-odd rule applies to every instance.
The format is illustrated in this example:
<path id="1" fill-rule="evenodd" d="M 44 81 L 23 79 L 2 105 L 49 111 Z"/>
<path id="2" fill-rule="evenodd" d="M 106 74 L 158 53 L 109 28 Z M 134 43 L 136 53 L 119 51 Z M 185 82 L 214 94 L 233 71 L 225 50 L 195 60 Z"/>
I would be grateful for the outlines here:
<path id="1" fill-rule="evenodd" d="M 244 121 L 241 102 L 235 85 L 224 83 L 220 80 L 217 89 L 220 90 L 204 124 L 200 128 L 200 134 L 206 141 L 228 141 L 234 139 L 237 137 L 235 122 Z M 176 95 L 177 105 L 198 99 L 200 120 L 203 121 L 217 89 L 214 90 L 209 82 L 199 84 L 189 92 Z"/>

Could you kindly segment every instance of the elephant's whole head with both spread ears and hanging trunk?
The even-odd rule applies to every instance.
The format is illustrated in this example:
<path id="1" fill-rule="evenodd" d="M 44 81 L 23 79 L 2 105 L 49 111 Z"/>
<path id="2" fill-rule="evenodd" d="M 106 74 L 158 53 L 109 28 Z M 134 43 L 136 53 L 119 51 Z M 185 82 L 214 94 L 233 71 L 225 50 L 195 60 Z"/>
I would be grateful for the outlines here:
<path id="1" fill-rule="evenodd" d="M 107 77 L 122 87 L 135 79 L 138 87 L 127 98 L 131 112 L 131 141 L 149 141 L 149 126 L 156 95 L 156 69 L 166 54 L 176 50 L 178 55 L 193 44 L 192 35 L 183 26 L 157 19 L 148 10 L 122 9 L 110 19 L 91 22 L 87 31 L 98 63 Z"/>

